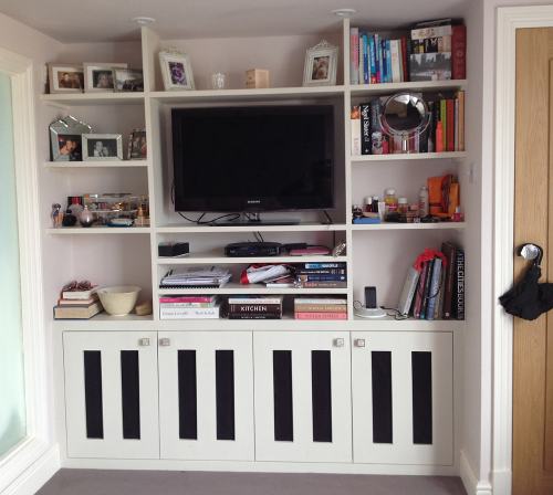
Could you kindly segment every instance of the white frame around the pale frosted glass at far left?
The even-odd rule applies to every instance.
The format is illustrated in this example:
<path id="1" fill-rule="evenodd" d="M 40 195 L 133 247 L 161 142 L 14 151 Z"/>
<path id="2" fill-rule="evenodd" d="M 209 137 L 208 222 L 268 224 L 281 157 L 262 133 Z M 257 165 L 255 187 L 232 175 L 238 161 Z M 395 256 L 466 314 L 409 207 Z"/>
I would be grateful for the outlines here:
<path id="1" fill-rule="evenodd" d="M 0 70 L 11 80 L 13 151 L 20 251 L 21 324 L 25 387 L 25 438 L 0 457 L 1 493 L 25 487 L 31 493 L 59 467 L 59 454 L 51 446 L 48 407 L 48 339 L 42 294 L 41 224 L 36 137 L 34 118 L 34 67 L 30 59 L 0 49 Z M 33 198 L 32 201 L 29 198 Z M 2 492 L 4 491 L 6 492 Z M 34 491 L 33 491 L 34 492 Z"/>

